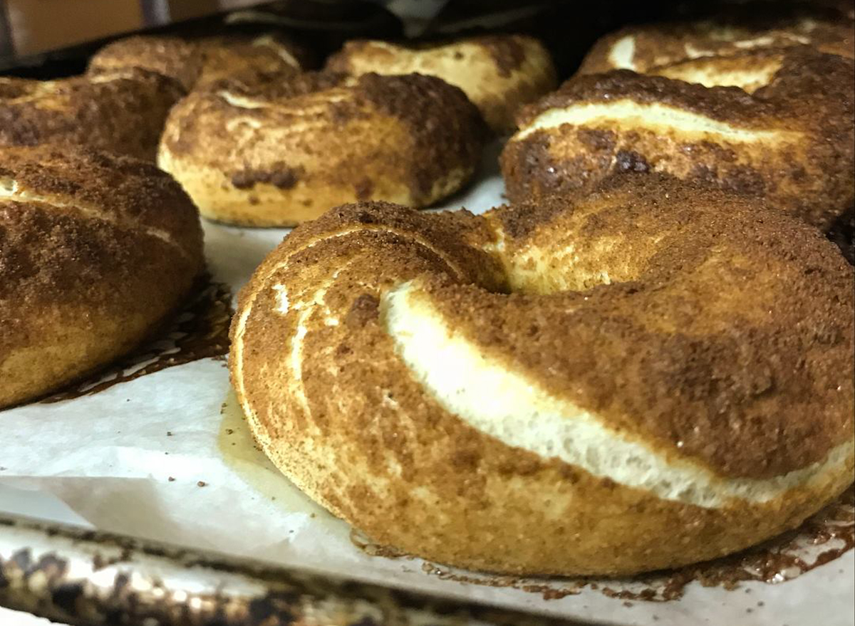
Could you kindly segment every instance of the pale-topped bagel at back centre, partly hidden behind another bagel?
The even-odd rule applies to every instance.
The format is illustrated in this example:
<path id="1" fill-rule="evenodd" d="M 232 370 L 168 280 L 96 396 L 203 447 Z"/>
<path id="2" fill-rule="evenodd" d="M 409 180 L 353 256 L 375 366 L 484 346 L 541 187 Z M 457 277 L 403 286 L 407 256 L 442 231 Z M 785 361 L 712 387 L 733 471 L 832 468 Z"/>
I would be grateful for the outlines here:
<path id="1" fill-rule="evenodd" d="M 549 53 L 535 38 L 484 35 L 434 44 L 356 40 L 327 61 L 347 74 L 428 74 L 460 87 L 496 133 L 514 129 L 516 109 L 555 89 Z"/>

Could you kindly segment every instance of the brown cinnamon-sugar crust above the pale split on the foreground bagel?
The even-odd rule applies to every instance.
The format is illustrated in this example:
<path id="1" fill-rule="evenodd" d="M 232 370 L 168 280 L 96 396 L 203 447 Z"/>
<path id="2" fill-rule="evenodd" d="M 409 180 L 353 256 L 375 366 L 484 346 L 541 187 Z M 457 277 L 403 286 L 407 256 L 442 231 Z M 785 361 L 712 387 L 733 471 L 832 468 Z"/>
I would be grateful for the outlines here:
<path id="1" fill-rule="evenodd" d="M 575 381 L 587 398 L 576 404 L 631 416 L 620 428 L 679 443 L 725 475 L 786 474 L 852 434 L 855 282 L 819 233 L 658 176 L 609 180 L 568 204 L 547 198 L 488 219 L 506 255 L 578 242 L 584 257 L 598 240 L 631 239 L 579 262 L 579 291 L 549 298 L 437 284 L 434 302 L 454 326 L 552 393 Z M 598 272 L 612 284 L 598 285 Z M 554 288 L 530 280 L 527 291 Z"/>

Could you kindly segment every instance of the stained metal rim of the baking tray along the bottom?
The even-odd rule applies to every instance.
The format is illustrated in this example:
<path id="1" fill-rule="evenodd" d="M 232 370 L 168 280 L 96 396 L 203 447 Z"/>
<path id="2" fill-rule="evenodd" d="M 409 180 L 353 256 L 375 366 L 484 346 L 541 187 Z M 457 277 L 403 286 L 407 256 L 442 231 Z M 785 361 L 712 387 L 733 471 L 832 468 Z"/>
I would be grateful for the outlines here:
<path id="1" fill-rule="evenodd" d="M 0 605 L 76 626 L 582 626 L 6 514 Z"/>

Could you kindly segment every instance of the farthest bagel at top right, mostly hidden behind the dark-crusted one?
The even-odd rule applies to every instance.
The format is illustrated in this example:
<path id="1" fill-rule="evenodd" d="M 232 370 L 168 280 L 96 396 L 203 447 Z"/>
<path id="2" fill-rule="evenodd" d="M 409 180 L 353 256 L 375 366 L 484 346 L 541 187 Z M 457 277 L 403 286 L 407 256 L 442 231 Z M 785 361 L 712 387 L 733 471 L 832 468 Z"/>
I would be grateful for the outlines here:
<path id="1" fill-rule="evenodd" d="M 622 28 L 593 45 L 579 72 L 602 74 L 613 69 L 631 69 L 645 74 L 653 68 L 706 56 L 741 55 L 750 50 L 799 45 L 810 45 L 828 54 L 855 56 L 852 19 L 810 15 L 804 11 L 781 12 L 777 7 L 772 12 L 763 5 L 759 11 L 758 7 L 746 9 L 749 15 L 732 15 L 730 19 L 719 15 L 709 20 Z"/>

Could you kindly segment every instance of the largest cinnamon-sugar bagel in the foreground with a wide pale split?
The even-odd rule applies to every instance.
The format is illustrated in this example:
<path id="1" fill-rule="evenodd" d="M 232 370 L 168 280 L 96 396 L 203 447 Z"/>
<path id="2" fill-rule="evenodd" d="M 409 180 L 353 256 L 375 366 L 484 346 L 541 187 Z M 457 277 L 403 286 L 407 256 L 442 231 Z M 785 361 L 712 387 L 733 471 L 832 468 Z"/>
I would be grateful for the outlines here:
<path id="1" fill-rule="evenodd" d="M 269 458 L 373 540 L 629 574 L 852 482 L 853 287 L 814 228 L 657 176 L 485 216 L 351 204 L 257 269 L 230 369 Z"/>

